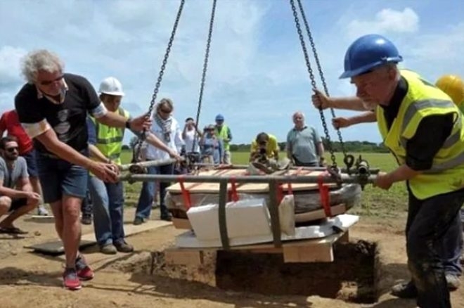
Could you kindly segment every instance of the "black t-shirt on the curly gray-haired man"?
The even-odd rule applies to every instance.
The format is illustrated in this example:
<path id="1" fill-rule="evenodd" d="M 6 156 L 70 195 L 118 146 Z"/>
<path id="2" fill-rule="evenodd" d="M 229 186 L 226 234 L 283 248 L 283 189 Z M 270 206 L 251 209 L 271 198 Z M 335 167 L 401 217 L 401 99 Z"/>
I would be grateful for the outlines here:
<path id="1" fill-rule="evenodd" d="M 101 102 L 94 87 L 84 77 L 65 74 L 64 79 L 68 89 L 63 103 L 52 103 L 46 96 L 38 98 L 36 86 L 25 84 L 15 96 L 15 108 L 22 124 L 46 120 L 60 141 L 81 151 L 87 148 L 87 112 Z M 34 140 L 34 146 L 40 152 L 49 153 L 37 140 Z"/>

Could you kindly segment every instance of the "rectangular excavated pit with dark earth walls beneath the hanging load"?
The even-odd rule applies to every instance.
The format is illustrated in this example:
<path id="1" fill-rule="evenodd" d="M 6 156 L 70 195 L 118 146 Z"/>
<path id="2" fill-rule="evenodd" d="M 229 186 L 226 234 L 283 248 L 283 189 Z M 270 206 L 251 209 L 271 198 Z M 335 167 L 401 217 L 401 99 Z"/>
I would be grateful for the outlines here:
<path id="1" fill-rule="evenodd" d="M 171 265 L 164 252 L 131 261 L 124 271 L 197 281 L 223 290 L 264 295 L 318 295 L 372 303 L 379 297 L 378 246 L 359 240 L 337 243 L 331 263 L 284 263 L 282 255 L 238 250 L 205 252 L 201 265 Z"/>

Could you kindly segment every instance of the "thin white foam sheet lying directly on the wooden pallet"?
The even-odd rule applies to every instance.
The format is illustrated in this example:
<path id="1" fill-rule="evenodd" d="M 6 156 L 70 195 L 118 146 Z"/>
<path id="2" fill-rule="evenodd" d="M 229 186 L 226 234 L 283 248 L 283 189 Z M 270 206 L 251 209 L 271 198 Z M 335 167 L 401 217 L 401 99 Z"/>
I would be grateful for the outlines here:
<path id="1" fill-rule="evenodd" d="M 287 240 L 303 240 L 310 238 L 325 238 L 332 234 L 337 233 L 340 229 L 346 231 L 351 226 L 359 221 L 359 216 L 351 214 L 341 214 L 336 217 L 328 219 L 326 222 L 316 226 L 300 226 L 295 229 L 295 235 L 288 236 L 284 233 L 281 234 L 283 241 Z M 219 230 L 218 230 L 219 232 Z M 196 231 L 195 231 L 196 233 Z M 220 238 L 210 240 L 202 240 L 195 236 L 195 233 L 188 231 L 176 237 L 176 246 L 179 248 L 221 248 Z M 231 246 L 250 245 L 257 243 L 270 243 L 272 242 L 272 234 L 261 236 L 242 236 L 238 238 L 229 237 L 229 244 Z"/>

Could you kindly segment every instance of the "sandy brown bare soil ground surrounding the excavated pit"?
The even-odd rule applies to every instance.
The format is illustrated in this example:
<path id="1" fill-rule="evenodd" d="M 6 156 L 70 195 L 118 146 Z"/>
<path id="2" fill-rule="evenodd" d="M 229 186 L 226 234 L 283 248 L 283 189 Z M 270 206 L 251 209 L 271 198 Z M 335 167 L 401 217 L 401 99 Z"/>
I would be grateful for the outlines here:
<path id="1" fill-rule="evenodd" d="M 153 217 L 157 217 L 155 211 Z M 134 210 L 127 210 L 127 223 Z M 380 253 L 380 299 L 374 304 L 357 304 L 342 300 L 302 295 L 261 295 L 250 291 L 222 290 L 208 281 L 207 273 L 196 273 L 194 280 L 176 279 L 175 273 L 150 275 L 153 252 L 162 252 L 172 245 L 182 231 L 172 226 L 139 233 L 127 238 L 136 251 L 129 255 L 102 255 L 96 248 L 84 253 L 96 271 L 92 281 L 84 282 L 82 290 L 63 289 L 61 274 L 63 256 L 50 257 L 30 252 L 25 245 L 55 240 L 53 222 L 32 222 L 28 217 L 18 226 L 30 233 L 22 238 L 0 235 L 0 307 L 312 307 L 312 308 L 409 308 L 414 300 L 400 300 L 389 295 L 389 288 L 408 278 L 404 241 L 404 221 L 361 217 L 351 229 L 350 240 L 378 243 Z M 83 233 L 91 233 L 84 226 Z M 155 254 L 156 257 L 156 254 Z M 152 264 L 153 267 L 153 264 Z M 185 273 L 177 273 L 179 277 Z M 464 283 L 464 281 L 461 281 Z M 219 281 L 218 281 L 219 283 Z M 453 307 L 464 308 L 464 285 L 451 293 Z"/>

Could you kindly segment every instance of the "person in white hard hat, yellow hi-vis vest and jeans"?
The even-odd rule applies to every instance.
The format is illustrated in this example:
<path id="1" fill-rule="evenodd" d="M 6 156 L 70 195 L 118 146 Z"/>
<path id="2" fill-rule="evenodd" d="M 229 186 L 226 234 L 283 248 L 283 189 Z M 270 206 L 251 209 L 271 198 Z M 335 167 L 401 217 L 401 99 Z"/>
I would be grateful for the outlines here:
<path id="1" fill-rule="evenodd" d="M 110 113 L 119 113 L 127 120 L 130 116 L 127 110 L 120 107 L 122 84 L 115 77 L 103 79 L 100 85 L 100 99 Z M 89 117 L 87 120 L 89 131 L 89 152 L 92 159 L 121 165 L 122 141 L 124 128 L 109 127 L 96 122 Z M 179 155 L 165 146 L 160 139 L 148 132 L 147 143 L 165 150 L 173 158 Z M 124 194 L 122 182 L 109 183 L 101 181 L 93 174 L 89 177 L 89 191 L 94 203 L 95 236 L 100 251 L 105 254 L 131 252 L 134 248 L 124 240 L 123 208 Z"/>

